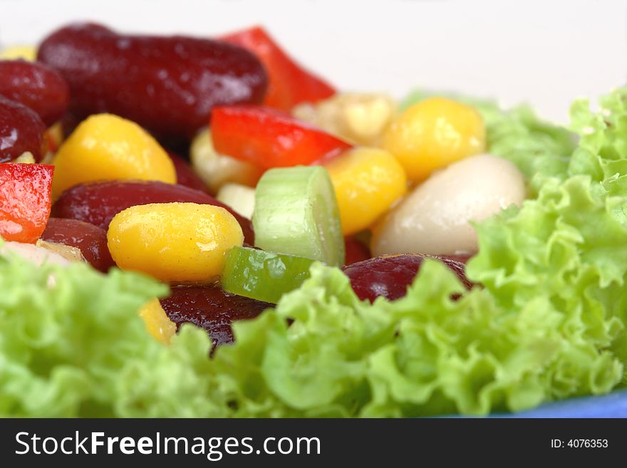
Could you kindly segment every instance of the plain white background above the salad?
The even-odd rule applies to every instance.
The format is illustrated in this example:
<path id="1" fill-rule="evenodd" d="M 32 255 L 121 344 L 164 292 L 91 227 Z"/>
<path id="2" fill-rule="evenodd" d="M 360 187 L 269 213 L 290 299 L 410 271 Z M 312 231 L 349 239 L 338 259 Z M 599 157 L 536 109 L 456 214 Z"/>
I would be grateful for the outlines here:
<path id="1" fill-rule="evenodd" d="M 574 98 L 627 82 L 624 0 L 0 0 L 0 46 L 78 20 L 198 36 L 263 24 L 344 90 L 458 90 L 561 122 Z"/>

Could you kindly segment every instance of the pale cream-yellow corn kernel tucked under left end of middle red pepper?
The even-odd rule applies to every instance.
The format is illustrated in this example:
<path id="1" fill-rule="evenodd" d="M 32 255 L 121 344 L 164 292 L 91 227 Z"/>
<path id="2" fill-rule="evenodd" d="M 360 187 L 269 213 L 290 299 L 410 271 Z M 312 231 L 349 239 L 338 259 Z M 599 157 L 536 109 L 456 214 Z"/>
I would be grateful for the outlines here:
<path id="1" fill-rule="evenodd" d="M 249 162 L 219 155 L 213 147 L 211 132 L 207 128 L 198 132 L 190 147 L 192 167 L 212 193 L 217 193 L 227 183 L 254 187 L 263 170 Z"/>

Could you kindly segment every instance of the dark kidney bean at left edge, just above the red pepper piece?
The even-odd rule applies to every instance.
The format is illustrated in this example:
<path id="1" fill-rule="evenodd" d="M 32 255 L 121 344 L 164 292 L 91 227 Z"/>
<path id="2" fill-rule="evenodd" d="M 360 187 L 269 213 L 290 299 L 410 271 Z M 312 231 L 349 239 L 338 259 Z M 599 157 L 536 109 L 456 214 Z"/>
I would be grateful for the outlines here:
<path id="1" fill-rule="evenodd" d="M 34 110 L 0 95 L 0 162 L 14 160 L 25 151 L 40 161 L 45 131 Z"/>

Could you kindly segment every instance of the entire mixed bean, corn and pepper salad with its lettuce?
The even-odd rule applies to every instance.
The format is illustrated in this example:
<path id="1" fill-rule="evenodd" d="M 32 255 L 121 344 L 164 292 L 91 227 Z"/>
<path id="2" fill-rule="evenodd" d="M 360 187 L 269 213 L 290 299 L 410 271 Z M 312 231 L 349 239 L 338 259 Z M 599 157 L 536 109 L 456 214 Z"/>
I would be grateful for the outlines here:
<path id="1" fill-rule="evenodd" d="M 627 383 L 627 88 L 342 93 L 254 27 L 0 60 L 0 415 L 518 412 Z M 3 240 L 4 239 L 4 240 Z"/>

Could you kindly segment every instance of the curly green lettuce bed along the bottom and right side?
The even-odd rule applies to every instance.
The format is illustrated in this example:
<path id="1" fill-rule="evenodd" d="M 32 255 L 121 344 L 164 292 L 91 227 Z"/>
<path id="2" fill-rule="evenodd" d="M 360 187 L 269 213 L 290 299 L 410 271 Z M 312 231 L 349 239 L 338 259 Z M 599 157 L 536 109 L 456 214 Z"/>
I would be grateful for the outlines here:
<path id="1" fill-rule="evenodd" d="M 467 276 L 482 286 L 426 260 L 403 298 L 370 303 L 316 262 L 212 358 L 194 326 L 170 345 L 147 333 L 136 311 L 167 295 L 153 279 L 0 257 L 0 415 L 487 415 L 610 392 L 626 383 L 626 103 L 626 88 L 598 113 L 574 103 L 575 142 L 527 108 L 472 101 L 532 195 L 477 224 Z"/>

